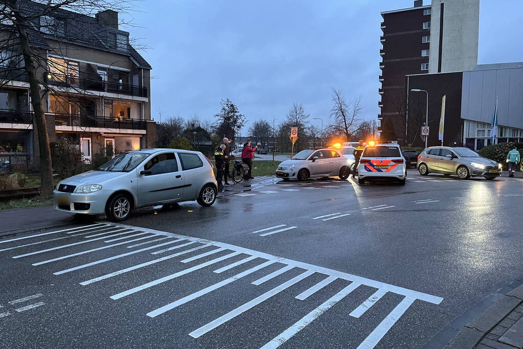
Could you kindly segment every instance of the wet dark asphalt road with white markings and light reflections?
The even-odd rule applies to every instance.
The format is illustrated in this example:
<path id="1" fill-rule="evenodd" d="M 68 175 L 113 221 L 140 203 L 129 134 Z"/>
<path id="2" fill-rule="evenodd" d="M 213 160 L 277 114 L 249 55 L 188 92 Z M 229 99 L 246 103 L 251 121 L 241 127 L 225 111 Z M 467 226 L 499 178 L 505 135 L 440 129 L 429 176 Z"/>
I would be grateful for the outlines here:
<path id="1" fill-rule="evenodd" d="M 0 347 L 423 347 L 521 276 L 523 180 L 409 175 L 2 239 Z"/>

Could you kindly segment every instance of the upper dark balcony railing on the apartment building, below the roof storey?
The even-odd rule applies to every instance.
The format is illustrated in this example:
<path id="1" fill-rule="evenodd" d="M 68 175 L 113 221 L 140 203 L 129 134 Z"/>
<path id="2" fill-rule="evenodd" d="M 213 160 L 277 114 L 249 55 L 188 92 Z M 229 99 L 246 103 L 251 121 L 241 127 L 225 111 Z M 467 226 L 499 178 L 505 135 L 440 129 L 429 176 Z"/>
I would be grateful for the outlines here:
<path id="1" fill-rule="evenodd" d="M 71 75 L 52 74 L 51 78 L 46 75 L 49 85 L 78 88 L 100 92 L 111 92 L 114 94 L 147 97 L 147 88 L 137 85 L 120 84 L 116 82 L 102 81 L 94 77 L 77 77 Z"/>

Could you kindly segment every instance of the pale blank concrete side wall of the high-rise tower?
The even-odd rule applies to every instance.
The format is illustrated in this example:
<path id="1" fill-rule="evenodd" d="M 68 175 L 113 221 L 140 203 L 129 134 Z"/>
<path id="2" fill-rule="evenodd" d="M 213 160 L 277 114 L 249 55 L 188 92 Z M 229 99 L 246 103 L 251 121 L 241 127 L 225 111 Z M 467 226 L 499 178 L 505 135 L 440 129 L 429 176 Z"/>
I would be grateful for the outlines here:
<path id="1" fill-rule="evenodd" d="M 480 0 L 433 0 L 429 73 L 438 73 L 441 4 L 444 4 L 441 73 L 471 70 L 477 64 Z"/>

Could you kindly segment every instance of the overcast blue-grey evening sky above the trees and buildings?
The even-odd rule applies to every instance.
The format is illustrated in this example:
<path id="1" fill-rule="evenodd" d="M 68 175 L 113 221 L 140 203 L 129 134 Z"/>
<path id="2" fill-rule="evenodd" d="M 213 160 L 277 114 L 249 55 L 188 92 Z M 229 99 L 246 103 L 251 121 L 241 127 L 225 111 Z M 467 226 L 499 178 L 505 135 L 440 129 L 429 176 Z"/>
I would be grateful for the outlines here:
<path id="1" fill-rule="evenodd" d="M 425 0 L 425 5 L 429 4 Z M 499 4 L 503 4 L 500 6 Z M 377 117 L 380 11 L 412 0 L 145 0 L 125 28 L 151 47 L 152 114 L 212 119 L 230 98 L 250 122 L 302 103 L 327 122 L 331 87 Z M 481 0 L 479 63 L 521 62 L 520 0 Z M 124 28 L 122 28 L 124 29 Z M 319 121 L 313 121 L 318 122 Z M 249 124 L 242 131 L 247 133 Z"/>

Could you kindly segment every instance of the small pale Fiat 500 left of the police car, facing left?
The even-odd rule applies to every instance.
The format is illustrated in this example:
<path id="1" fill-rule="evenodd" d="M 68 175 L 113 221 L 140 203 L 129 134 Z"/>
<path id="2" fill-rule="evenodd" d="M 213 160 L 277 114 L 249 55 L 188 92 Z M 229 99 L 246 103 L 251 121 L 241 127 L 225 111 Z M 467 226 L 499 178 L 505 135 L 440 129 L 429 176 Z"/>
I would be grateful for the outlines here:
<path id="1" fill-rule="evenodd" d="M 350 161 L 337 149 L 308 149 L 285 160 L 276 169 L 276 177 L 306 181 L 309 178 L 338 176 L 347 179 Z"/>

